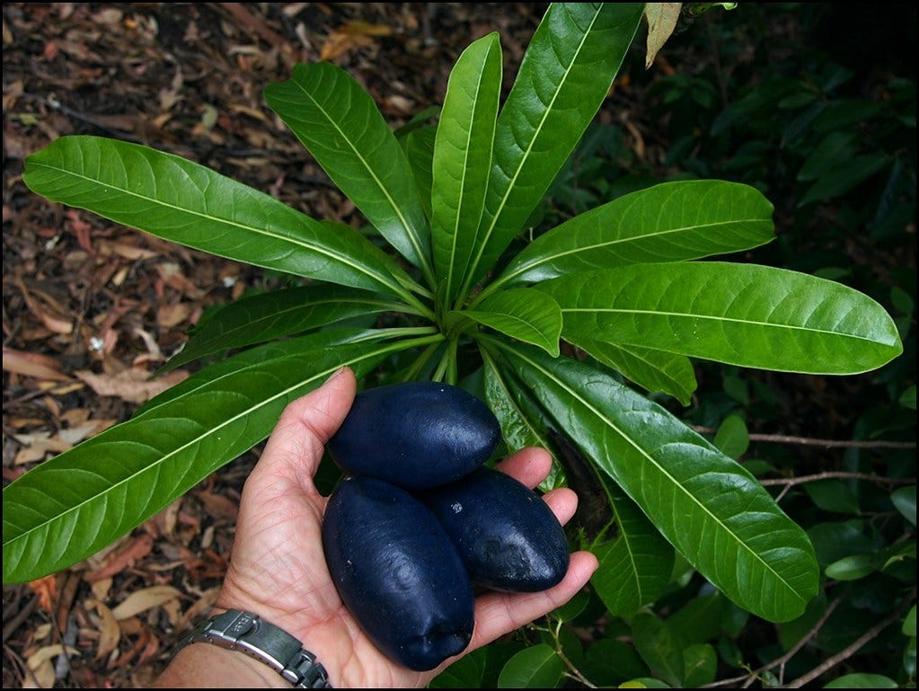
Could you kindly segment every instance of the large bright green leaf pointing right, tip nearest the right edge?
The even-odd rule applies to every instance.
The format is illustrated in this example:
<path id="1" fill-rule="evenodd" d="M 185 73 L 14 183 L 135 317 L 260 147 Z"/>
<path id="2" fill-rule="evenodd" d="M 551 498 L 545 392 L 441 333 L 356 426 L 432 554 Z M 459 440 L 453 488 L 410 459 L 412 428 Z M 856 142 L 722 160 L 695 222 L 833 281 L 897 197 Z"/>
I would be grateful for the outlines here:
<path id="1" fill-rule="evenodd" d="M 540 283 L 564 337 L 641 345 L 749 368 L 857 374 L 902 353 L 891 316 L 864 293 L 787 269 L 638 264 Z"/>

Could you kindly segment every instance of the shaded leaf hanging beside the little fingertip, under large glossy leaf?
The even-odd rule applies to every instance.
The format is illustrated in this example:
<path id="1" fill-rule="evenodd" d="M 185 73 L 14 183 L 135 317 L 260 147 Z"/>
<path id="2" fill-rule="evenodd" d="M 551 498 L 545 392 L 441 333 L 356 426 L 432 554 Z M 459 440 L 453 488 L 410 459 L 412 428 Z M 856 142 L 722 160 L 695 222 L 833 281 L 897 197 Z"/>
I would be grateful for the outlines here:
<path id="1" fill-rule="evenodd" d="M 674 569 L 674 548 L 608 477 L 600 482 L 615 516 L 616 537 L 591 549 L 600 565 L 590 582 L 611 615 L 631 617 L 664 592 Z"/>

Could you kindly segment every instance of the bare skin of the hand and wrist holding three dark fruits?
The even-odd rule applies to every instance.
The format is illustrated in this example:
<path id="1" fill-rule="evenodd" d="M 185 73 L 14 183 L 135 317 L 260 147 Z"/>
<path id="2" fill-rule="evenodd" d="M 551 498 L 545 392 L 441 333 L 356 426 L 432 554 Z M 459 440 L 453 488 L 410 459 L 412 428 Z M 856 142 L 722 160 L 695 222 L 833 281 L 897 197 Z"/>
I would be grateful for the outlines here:
<path id="1" fill-rule="evenodd" d="M 316 655 L 334 687 L 422 687 L 459 656 L 429 672 L 414 672 L 391 662 L 348 613 L 325 565 L 321 527 L 328 500 L 316 489 L 313 477 L 323 459 L 325 443 L 345 419 L 356 391 L 354 373 L 342 368 L 323 386 L 291 402 L 281 414 L 245 482 L 230 568 L 214 613 L 231 608 L 250 611 L 287 630 Z M 547 451 L 528 447 L 502 461 L 498 469 L 534 488 L 548 475 L 550 464 Z M 567 488 L 553 490 L 543 498 L 562 524 L 577 507 L 577 496 Z M 590 552 L 574 552 L 562 583 L 550 590 L 479 595 L 472 640 L 461 654 L 562 606 L 584 587 L 596 566 L 596 557 Z M 203 648 L 215 646 L 192 645 L 179 655 L 195 649 L 199 649 L 197 656 L 215 654 L 200 650 Z M 267 665 L 241 653 L 217 649 L 216 654 L 242 659 L 233 664 L 245 661 L 250 668 L 256 665 L 252 669 L 267 683 L 273 681 L 271 674 L 277 676 L 275 681 L 280 680 Z M 189 658 L 176 666 L 181 670 L 167 669 L 157 685 L 195 685 L 187 676 L 193 676 L 200 666 L 190 663 Z M 210 684 L 207 680 L 198 683 L 214 685 L 216 681 L 211 678 Z"/>

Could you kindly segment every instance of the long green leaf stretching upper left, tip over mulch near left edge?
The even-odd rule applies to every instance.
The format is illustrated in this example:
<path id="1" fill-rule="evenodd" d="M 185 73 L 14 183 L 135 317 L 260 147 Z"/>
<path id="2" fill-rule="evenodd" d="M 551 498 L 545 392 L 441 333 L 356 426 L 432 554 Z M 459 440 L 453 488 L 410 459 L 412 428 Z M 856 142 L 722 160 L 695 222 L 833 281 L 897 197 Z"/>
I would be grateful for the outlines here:
<path id="1" fill-rule="evenodd" d="M 353 229 L 331 232 L 278 199 L 140 144 L 69 136 L 26 159 L 51 201 L 255 266 L 403 298 L 412 279 Z"/>

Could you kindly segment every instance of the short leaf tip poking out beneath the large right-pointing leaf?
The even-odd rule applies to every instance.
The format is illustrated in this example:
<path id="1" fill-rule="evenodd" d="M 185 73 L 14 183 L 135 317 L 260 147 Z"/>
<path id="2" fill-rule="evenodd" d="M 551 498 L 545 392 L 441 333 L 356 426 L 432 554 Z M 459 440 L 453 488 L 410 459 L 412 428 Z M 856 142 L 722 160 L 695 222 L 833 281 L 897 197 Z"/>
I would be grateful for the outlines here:
<path id="1" fill-rule="evenodd" d="M 696 371 L 688 357 L 641 345 L 593 341 L 582 334 L 573 336 L 572 343 L 646 391 L 664 391 L 683 405 L 689 404 L 696 391 Z"/>

